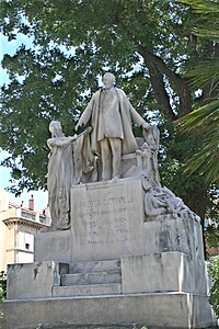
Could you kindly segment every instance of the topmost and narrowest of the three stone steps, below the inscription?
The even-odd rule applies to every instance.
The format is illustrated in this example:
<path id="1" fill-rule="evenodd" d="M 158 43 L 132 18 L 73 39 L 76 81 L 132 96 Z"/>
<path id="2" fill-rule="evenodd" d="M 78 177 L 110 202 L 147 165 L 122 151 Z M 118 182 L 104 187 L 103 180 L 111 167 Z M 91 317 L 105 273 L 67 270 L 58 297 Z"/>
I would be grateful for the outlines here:
<path id="1" fill-rule="evenodd" d="M 120 269 L 120 260 L 76 262 L 69 264 L 69 273 L 91 273 Z"/>

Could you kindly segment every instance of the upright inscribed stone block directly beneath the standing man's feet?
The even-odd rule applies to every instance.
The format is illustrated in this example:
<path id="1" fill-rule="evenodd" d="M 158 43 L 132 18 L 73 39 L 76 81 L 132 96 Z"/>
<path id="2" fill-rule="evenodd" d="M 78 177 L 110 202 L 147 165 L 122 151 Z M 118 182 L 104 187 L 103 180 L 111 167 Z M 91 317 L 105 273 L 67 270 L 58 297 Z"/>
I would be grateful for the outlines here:
<path id="1" fill-rule="evenodd" d="M 72 261 L 145 253 L 140 179 L 81 184 L 71 189 Z"/>

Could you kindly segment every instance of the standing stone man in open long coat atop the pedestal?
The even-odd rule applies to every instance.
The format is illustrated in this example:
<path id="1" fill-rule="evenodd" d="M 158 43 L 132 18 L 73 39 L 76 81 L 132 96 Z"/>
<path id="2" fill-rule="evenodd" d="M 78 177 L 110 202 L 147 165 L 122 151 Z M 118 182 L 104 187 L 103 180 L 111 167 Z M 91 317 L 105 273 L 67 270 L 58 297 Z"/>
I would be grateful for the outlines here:
<path id="1" fill-rule="evenodd" d="M 122 155 L 138 149 L 131 122 L 149 131 L 150 125 L 132 107 L 125 92 L 115 88 L 114 75 L 103 76 L 104 88 L 96 91 L 82 113 L 76 131 L 91 120 L 91 150 L 101 154 L 102 180 L 120 177 Z"/>

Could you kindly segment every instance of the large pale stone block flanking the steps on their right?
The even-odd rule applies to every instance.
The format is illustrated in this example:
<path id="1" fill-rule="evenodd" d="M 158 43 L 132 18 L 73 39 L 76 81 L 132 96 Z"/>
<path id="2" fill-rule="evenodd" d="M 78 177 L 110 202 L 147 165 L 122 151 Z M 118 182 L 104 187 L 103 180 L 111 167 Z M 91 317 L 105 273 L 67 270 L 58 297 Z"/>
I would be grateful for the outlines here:
<path id="1" fill-rule="evenodd" d="M 189 292 L 207 294 L 205 262 L 181 252 L 122 258 L 123 293 Z"/>

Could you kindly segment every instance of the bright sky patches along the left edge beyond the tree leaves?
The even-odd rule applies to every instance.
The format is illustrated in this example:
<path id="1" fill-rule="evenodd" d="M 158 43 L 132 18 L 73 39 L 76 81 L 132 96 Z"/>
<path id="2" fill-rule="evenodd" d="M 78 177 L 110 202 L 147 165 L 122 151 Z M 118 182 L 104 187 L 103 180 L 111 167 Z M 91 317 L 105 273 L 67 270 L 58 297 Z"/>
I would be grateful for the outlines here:
<path id="1" fill-rule="evenodd" d="M 28 47 L 31 47 L 32 39 L 20 33 L 16 34 L 15 39 L 8 42 L 8 38 L 2 34 L 0 34 L 0 61 L 2 60 L 4 54 L 12 56 L 15 53 L 16 48 L 22 44 L 25 44 Z M 9 78 L 7 71 L 2 69 L 2 66 L 0 66 L 0 87 L 2 87 L 4 83 L 8 82 L 9 82 Z M 3 159 L 5 159 L 8 156 L 9 156 L 8 152 L 0 149 L 0 162 Z M 0 191 L 10 186 L 9 180 L 10 180 L 10 169 L 0 166 Z M 35 209 L 43 211 L 47 206 L 47 200 L 48 200 L 47 192 L 25 191 L 21 195 L 21 197 L 15 197 L 13 194 L 10 194 L 9 200 L 15 204 L 21 204 L 21 202 L 23 201 L 24 206 L 27 207 L 28 198 L 31 197 L 32 194 L 34 195 L 34 200 L 35 200 Z"/>

